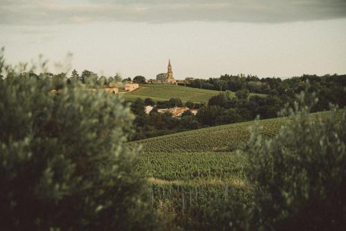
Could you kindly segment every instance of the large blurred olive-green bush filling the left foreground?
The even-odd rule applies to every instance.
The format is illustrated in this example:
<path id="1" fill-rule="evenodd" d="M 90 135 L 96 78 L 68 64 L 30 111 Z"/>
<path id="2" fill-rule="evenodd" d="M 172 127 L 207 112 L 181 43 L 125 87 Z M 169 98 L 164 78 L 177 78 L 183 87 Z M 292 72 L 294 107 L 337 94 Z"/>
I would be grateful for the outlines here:
<path id="1" fill-rule="evenodd" d="M 9 67 L 0 78 L 1 230 L 154 230 L 132 168 L 138 150 L 125 146 L 129 108 L 113 94 L 52 87 Z"/>

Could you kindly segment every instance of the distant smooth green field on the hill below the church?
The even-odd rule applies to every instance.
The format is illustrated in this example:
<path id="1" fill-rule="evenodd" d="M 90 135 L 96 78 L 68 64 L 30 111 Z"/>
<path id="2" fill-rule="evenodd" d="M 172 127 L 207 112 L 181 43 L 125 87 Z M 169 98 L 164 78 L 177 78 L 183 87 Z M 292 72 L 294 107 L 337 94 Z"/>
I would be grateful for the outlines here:
<path id="1" fill-rule="evenodd" d="M 198 89 L 192 87 L 183 87 L 178 85 L 165 84 L 145 84 L 133 92 L 121 94 L 122 97 L 131 101 L 136 98 L 145 99 L 152 98 L 155 101 L 167 101 L 172 98 L 179 98 L 183 102 L 192 101 L 194 103 L 208 102 L 208 100 L 219 91 L 209 89 Z M 231 94 L 235 95 L 234 92 Z"/>

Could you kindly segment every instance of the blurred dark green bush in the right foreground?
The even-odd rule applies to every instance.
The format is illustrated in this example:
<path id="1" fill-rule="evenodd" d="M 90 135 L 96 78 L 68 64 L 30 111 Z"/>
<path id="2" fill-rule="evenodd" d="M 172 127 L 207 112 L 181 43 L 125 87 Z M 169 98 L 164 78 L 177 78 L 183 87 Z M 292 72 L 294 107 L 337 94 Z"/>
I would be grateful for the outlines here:
<path id="1" fill-rule="evenodd" d="M 291 121 L 273 139 L 264 141 L 254 128 L 246 148 L 255 189 L 248 229 L 346 227 L 346 114 L 335 107 L 325 116 L 309 114 L 316 102 L 302 92 L 283 111 Z"/>

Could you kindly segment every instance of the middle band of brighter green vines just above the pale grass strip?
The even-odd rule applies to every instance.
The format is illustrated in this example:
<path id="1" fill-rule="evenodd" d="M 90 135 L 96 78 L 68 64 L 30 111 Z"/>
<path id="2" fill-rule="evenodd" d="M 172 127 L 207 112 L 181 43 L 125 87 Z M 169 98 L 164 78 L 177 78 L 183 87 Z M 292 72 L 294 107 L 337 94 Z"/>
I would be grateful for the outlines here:
<path id="1" fill-rule="evenodd" d="M 241 170 L 236 153 L 143 153 L 135 169 L 163 180 L 224 179 Z"/>

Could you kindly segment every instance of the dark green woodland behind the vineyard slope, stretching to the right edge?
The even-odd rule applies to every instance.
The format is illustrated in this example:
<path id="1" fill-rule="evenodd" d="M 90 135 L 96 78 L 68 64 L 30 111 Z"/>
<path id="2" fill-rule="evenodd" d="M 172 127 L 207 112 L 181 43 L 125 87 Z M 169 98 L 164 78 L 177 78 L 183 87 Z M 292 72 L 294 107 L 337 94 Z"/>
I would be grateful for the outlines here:
<path id="1" fill-rule="evenodd" d="M 254 80 L 257 77 L 226 76 L 230 80 Z M 221 77 L 219 80 L 224 79 Z M 197 81 L 197 80 L 194 80 Z M 206 80 L 207 82 L 208 80 Z M 215 79 L 213 80 L 215 83 Z M 329 104 L 346 106 L 346 75 L 341 76 L 301 76 L 287 80 L 280 78 L 262 79 L 264 85 L 271 90 L 266 95 L 250 95 L 248 89 L 239 89 L 233 96 L 232 92 L 221 92 L 212 96 L 208 103 L 194 104 L 186 102 L 185 106 L 199 109 L 194 116 L 185 112 L 181 118 L 172 118 L 170 112 L 158 113 L 158 108 L 181 107 L 180 99 L 155 102 L 152 99 L 136 99 L 131 104 L 131 110 L 136 114 L 134 121 L 136 134 L 133 139 L 144 139 L 158 135 L 170 134 L 208 126 L 218 126 L 228 123 L 251 121 L 257 116 L 260 119 L 270 119 L 278 116 L 285 105 L 293 107 L 296 94 L 307 91 L 311 95 L 316 92 L 318 102 L 311 112 L 329 110 Z M 230 82 L 231 83 L 231 82 Z M 262 82 L 260 82 L 262 83 Z M 154 110 L 145 114 L 144 107 L 153 105 Z"/>

